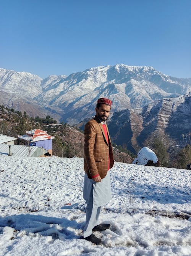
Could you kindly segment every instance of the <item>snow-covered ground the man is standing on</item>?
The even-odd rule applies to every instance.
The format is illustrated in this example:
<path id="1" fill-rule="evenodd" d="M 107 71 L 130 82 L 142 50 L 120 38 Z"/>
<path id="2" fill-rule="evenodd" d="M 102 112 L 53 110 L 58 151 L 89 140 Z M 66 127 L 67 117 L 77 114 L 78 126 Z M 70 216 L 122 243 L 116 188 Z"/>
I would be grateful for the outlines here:
<path id="1" fill-rule="evenodd" d="M 83 159 L 0 155 L 0 255 L 191 255 L 191 171 L 115 162 L 112 200 L 85 224 Z"/>

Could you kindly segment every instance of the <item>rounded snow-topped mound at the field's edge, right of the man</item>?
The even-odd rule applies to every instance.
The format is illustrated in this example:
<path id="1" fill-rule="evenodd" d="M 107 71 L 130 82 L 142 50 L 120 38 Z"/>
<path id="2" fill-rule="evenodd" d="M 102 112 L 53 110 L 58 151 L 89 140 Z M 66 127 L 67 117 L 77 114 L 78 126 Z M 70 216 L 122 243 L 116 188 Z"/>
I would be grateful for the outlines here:
<path id="1" fill-rule="evenodd" d="M 151 149 L 143 147 L 139 150 L 132 164 L 159 166 L 159 160 Z"/>

